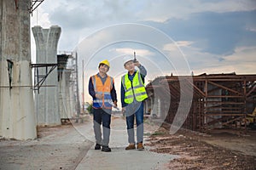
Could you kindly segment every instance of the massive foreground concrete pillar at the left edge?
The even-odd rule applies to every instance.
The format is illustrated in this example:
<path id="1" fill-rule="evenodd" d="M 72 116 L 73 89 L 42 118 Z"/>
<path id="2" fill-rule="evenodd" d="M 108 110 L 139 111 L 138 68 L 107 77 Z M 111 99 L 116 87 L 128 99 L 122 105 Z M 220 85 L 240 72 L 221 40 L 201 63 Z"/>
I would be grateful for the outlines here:
<path id="1" fill-rule="evenodd" d="M 0 135 L 37 137 L 32 92 L 30 0 L 0 1 Z"/>

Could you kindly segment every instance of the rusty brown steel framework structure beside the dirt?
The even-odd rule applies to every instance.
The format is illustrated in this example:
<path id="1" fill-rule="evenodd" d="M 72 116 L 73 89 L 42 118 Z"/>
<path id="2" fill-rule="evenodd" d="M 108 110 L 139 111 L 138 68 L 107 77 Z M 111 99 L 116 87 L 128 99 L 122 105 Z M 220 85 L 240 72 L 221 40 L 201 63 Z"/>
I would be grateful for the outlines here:
<path id="1" fill-rule="evenodd" d="M 164 117 L 166 122 L 173 122 L 178 107 L 192 102 L 189 115 L 183 123 L 185 128 L 198 131 L 247 128 L 247 115 L 253 113 L 256 106 L 256 75 L 231 73 L 193 76 L 193 82 L 187 83 L 187 86 L 193 87 L 192 101 L 180 101 L 182 91 L 185 94 L 191 93 L 186 91 L 189 88 L 180 88 L 181 78 L 186 80 L 185 76 L 157 77 L 147 85 L 148 100 L 157 101 L 154 99 L 154 90 L 158 90 L 160 108 L 169 106 L 168 115 Z M 162 97 L 165 94 L 171 96 L 170 103 L 165 103 Z M 149 103 L 151 105 L 147 105 L 148 108 L 158 105 Z"/>

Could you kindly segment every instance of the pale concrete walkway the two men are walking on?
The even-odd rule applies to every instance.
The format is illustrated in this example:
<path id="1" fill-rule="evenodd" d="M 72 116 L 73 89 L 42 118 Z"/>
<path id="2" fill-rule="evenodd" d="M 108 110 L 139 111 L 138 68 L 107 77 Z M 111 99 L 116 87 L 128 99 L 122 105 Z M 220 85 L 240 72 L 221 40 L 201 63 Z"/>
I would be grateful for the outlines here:
<path id="1" fill-rule="evenodd" d="M 86 139 L 95 141 L 92 135 L 92 122 L 90 127 L 77 127 L 79 132 L 83 133 Z M 125 119 L 122 117 L 113 117 L 111 122 L 111 135 L 109 147 L 111 152 L 102 152 L 94 150 L 94 144 L 88 151 L 84 159 L 79 163 L 76 170 L 84 169 L 168 169 L 166 164 L 177 156 L 169 154 L 158 154 L 145 150 L 125 150 L 128 144 Z M 147 131 L 147 129 L 145 129 Z M 147 132 L 148 133 L 148 132 Z M 145 141 L 147 138 L 145 139 Z"/>

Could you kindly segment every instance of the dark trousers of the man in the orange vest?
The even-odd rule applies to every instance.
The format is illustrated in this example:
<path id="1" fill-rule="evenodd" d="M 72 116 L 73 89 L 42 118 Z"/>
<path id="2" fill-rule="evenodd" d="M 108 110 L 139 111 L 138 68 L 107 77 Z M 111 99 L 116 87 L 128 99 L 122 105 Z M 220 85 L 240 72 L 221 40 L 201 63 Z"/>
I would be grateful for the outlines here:
<path id="1" fill-rule="evenodd" d="M 111 111 L 106 111 L 106 109 L 103 110 L 93 108 L 93 128 L 97 144 L 108 146 L 111 122 L 110 113 Z M 101 125 L 103 127 L 103 139 Z"/>

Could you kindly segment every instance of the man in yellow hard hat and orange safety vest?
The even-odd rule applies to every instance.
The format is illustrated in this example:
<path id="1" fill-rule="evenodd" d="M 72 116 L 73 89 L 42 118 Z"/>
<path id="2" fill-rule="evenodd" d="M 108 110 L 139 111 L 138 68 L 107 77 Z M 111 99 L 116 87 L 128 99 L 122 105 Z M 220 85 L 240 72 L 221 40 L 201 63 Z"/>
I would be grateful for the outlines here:
<path id="1" fill-rule="evenodd" d="M 117 107 L 117 97 L 114 88 L 113 77 L 107 72 L 110 68 L 107 59 L 102 60 L 98 65 L 99 72 L 90 77 L 89 94 L 93 99 L 93 127 L 96 138 L 95 150 L 105 152 L 111 151 L 108 146 L 110 135 L 110 122 L 112 106 Z M 102 130 L 103 127 L 103 138 Z"/>

